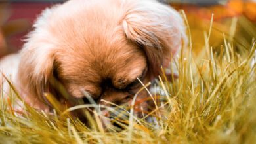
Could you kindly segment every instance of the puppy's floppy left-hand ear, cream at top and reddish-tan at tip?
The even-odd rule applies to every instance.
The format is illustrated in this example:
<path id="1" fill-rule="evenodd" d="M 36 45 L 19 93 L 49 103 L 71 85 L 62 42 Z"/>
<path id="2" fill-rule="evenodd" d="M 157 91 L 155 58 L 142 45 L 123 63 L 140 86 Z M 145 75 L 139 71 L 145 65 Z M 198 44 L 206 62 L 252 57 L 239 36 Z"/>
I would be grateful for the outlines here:
<path id="1" fill-rule="evenodd" d="M 18 81 L 32 103 L 33 99 L 45 102 L 43 95 L 49 92 L 49 79 L 53 75 L 54 66 L 54 52 L 50 46 L 33 37 L 21 52 Z"/>

